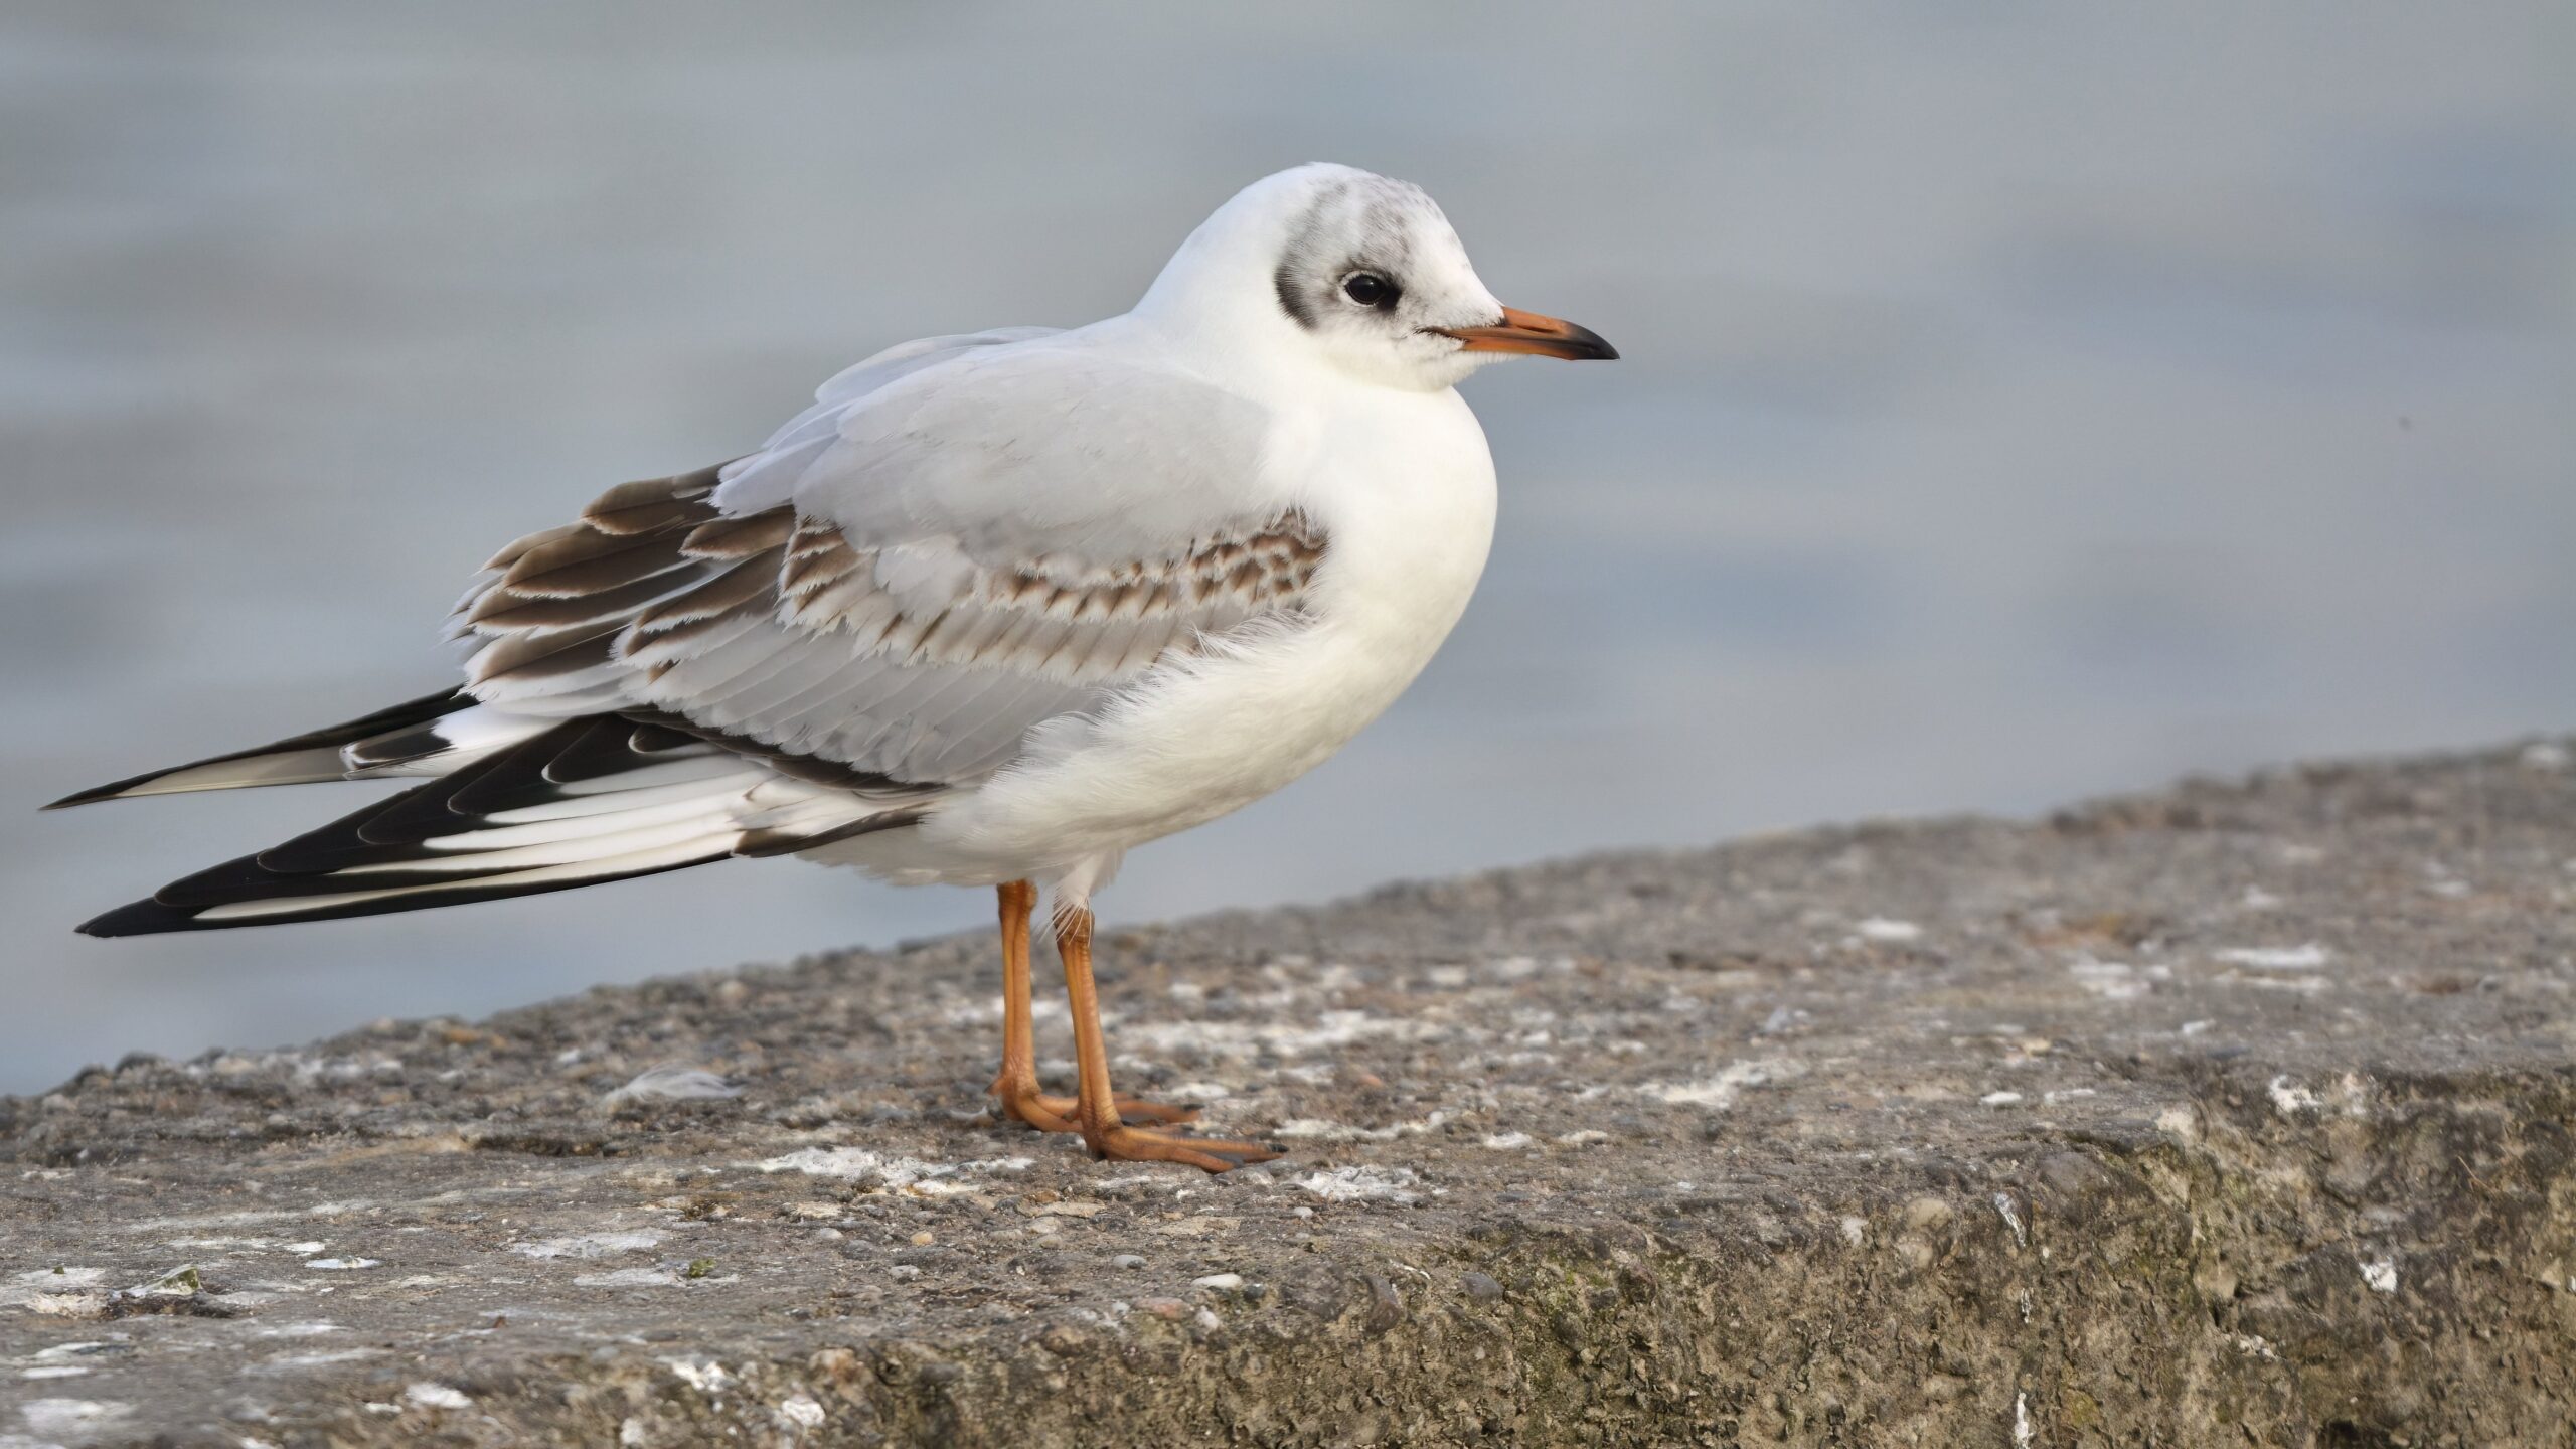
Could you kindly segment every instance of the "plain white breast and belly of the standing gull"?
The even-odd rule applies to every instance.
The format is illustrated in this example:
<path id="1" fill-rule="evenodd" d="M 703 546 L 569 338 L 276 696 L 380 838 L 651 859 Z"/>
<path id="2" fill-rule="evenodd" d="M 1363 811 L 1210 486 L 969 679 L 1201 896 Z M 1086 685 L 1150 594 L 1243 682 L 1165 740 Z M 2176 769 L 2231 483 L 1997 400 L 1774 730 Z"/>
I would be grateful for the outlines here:
<path id="1" fill-rule="evenodd" d="M 1455 392 L 1368 389 L 1283 449 L 1296 500 L 1329 534 L 1306 619 L 1157 668 L 1095 717 L 1041 724 L 971 797 L 840 859 L 907 882 L 1061 879 L 1079 897 L 1121 851 L 1252 804 L 1383 714 L 1484 572 L 1484 431 Z"/>

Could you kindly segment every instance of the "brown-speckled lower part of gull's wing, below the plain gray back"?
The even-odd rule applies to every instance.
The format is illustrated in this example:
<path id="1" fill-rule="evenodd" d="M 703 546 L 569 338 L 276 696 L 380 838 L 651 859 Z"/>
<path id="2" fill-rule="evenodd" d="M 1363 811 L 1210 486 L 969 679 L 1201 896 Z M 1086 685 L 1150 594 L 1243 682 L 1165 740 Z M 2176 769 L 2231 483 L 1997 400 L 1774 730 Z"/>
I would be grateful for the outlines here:
<path id="1" fill-rule="evenodd" d="M 580 523 L 502 549 L 451 624 L 477 642 L 474 691 L 662 712 L 775 768 L 809 761 L 799 779 L 961 781 L 1162 657 L 1298 614 L 1327 557 L 1288 511 L 1157 559 L 984 567 L 938 539 L 866 544 L 793 505 L 726 516 L 714 477 L 613 487 Z"/>

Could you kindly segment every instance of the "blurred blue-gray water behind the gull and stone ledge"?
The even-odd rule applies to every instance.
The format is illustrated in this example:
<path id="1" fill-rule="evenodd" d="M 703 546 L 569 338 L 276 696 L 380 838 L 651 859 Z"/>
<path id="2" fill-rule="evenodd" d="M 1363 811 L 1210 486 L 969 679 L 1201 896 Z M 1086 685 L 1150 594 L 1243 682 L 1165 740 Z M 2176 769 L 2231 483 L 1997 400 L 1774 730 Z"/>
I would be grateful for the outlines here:
<path id="1" fill-rule="evenodd" d="M 1448 652 L 1113 918 L 2563 730 L 2576 8 L 2254 10 L 13 5 L 0 1091 L 981 923 L 729 864 L 103 944 L 358 786 L 33 804 L 438 686 L 495 544 L 1298 160 L 1625 361 L 1468 387 Z"/>

